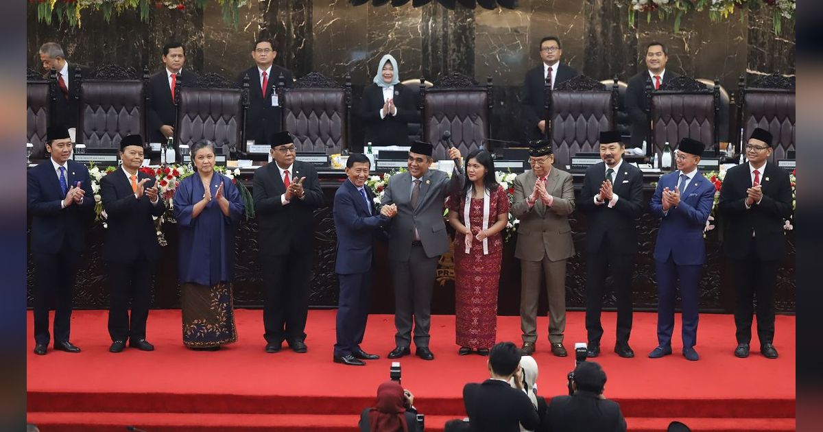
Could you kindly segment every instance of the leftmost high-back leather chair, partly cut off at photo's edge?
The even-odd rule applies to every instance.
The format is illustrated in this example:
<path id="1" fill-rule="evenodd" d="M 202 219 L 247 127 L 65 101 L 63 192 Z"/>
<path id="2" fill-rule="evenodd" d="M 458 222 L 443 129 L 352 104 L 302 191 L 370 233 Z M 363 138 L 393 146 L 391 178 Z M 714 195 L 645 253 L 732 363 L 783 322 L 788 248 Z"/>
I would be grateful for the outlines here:
<path id="1" fill-rule="evenodd" d="M 46 130 L 52 123 L 54 86 L 42 75 L 26 72 L 26 142 L 32 144 L 31 159 L 46 157 Z"/>

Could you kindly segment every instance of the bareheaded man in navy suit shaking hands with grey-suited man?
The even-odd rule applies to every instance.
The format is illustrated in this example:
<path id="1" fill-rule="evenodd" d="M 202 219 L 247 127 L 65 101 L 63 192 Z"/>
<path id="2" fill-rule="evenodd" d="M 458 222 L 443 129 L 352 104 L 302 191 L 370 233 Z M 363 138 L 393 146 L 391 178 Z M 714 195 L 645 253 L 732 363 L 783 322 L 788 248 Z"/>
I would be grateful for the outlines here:
<path id="1" fill-rule="evenodd" d="M 334 194 L 334 228 L 337 230 L 337 262 L 334 272 L 340 279 L 337 305 L 337 343 L 334 362 L 363 366 L 363 360 L 379 359 L 360 348 L 369 316 L 371 297 L 371 262 L 374 235 L 397 214 L 394 206 L 384 206 L 378 213 L 374 195 L 365 187 L 370 161 L 362 153 L 346 160 L 348 179 Z"/>

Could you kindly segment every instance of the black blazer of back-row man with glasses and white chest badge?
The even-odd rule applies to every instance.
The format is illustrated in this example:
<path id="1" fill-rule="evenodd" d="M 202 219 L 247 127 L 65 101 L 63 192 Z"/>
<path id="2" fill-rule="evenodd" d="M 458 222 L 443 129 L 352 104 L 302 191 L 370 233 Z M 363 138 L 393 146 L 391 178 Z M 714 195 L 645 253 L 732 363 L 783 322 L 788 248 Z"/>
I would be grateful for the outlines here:
<path id="1" fill-rule="evenodd" d="M 282 115 L 280 106 L 272 106 L 272 88 L 280 81 L 281 74 L 283 75 L 283 85 L 291 87 L 291 71 L 285 67 L 272 64 L 272 70 L 268 77 L 266 97 L 264 98 L 263 88 L 260 86 L 260 72 L 257 65 L 249 67 L 249 69 L 240 73 L 238 78 L 240 84 L 243 83 L 243 77 L 249 77 L 249 110 L 246 111 L 246 140 L 263 143 L 272 133 L 281 131 Z M 282 104 L 282 101 L 278 103 Z"/>

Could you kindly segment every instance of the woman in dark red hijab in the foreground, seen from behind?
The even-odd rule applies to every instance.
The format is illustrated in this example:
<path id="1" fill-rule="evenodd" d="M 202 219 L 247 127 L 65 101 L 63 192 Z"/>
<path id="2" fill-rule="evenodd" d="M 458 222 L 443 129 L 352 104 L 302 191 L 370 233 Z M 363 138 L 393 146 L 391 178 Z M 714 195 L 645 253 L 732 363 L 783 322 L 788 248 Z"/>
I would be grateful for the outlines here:
<path id="1" fill-rule="evenodd" d="M 414 395 L 395 381 L 377 388 L 377 403 L 360 414 L 360 432 L 418 432 Z"/>

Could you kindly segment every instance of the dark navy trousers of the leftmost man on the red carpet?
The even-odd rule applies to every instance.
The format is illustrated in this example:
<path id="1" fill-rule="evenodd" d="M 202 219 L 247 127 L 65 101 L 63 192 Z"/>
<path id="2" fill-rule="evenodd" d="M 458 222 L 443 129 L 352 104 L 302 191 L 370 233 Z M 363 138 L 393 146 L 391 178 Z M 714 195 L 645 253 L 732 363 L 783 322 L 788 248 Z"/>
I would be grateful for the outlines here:
<path id="1" fill-rule="evenodd" d="M 48 345 L 49 309 L 54 306 L 54 341 L 68 341 L 71 331 L 72 296 L 80 253 L 66 246 L 58 253 L 32 253 L 35 263 L 35 342 Z"/>

